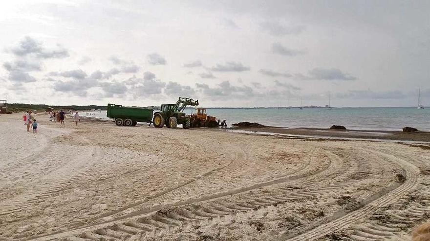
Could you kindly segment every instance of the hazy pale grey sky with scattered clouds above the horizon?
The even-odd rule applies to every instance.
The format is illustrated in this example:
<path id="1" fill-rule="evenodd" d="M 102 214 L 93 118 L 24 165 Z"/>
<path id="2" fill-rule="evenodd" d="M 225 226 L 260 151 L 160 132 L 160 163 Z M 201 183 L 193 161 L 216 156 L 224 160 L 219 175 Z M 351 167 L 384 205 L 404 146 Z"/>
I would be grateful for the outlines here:
<path id="1" fill-rule="evenodd" d="M 0 99 L 430 105 L 428 0 L 4 1 Z"/>

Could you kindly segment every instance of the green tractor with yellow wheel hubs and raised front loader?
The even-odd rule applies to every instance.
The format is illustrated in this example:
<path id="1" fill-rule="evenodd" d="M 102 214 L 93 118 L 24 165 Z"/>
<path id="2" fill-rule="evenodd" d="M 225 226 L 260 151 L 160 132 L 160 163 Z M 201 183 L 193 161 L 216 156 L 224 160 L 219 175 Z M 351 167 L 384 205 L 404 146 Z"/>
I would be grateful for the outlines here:
<path id="1" fill-rule="evenodd" d="M 189 129 L 191 119 L 183 112 L 187 106 L 198 106 L 198 100 L 179 97 L 176 104 L 161 105 L 161 110 L 154 113 L 154 127 L 162 128 L 166 125 L 167 128 L 176 128 L 178 124 L 182 124 L 182 128 Z"/>

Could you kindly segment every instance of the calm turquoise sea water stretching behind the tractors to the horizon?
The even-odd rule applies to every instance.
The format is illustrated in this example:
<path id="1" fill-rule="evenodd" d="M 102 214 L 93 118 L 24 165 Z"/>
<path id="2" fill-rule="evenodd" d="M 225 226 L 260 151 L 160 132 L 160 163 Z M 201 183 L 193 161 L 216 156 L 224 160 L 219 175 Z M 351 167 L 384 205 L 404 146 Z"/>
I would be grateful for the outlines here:
<path id="1" fill-rule="evenodd" d="M 191 113 L 191 110 L 186 110 Z M 405 126 L 430 131 L 430 108 L 303 108 L 300 109 L 208 109 L 209 115 L 226 120 L 230 126 L 241 121 L 257 122 L 267 126 L 329 128 L 342 125 L 351 130 L 400 130 Z M 107 118 L 106 111 L 91 117 Z M 86 116 L 86 112 L 81 113 Z"/>

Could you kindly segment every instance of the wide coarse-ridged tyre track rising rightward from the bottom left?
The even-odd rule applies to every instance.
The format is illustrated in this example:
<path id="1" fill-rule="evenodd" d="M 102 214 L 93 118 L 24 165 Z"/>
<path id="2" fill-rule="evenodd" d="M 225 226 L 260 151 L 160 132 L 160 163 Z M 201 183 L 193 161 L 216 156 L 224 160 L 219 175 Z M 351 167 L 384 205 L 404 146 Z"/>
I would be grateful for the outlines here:
<path id="1" fill-rule="evenodd" d="M 256 210 L 263 206 L 276 205 L 282 202 L 309 197 L 316 198 L 316 194 L 320 192 L 325 194 L 334 193 L 339 189 L 351 186 L 352 183 L 349 177 L 355 173 L 361 173 L 361 171 L 366 168 L 362 167 L 366 166 L 363 163 L 349 165 L 342 162 L 337 156 L 333 156 L 333 158 L 337 159 L 335 161 L 337 163 L 331 162 L 327 168 L 316 174 L 319 177 L 309 176 L 303 178 L 303 181 L 298 179 L 299 183 L 295 184 L 295 186 L 300 184 L 317 186 L 318 184 L 321 185 L 321 183 L 326 182 L 326 186 L 318 186 L 310 190 L 307 187 L 296 187 L 297 189 L 281 187 L 281 192 L 269 192 L 266 196 L 259 196 L 257 198 L 250 194 L 246 200 L 240 200 L 239 202 L 226 202 L 222 201 L 222 199 L 215 199 L 214 201 L 204 204 L 175 206 L 174 208 L 161 209 L 150 216 L 138 218 L 137 220 L 115 223 L 91 232 L 83 232 L 78 237 L 68 237 L 66 240 L 136 240 L 141 237 L 155 238 L 163 234 L 169 234 L 171 232 L 170 229 L 175 226 L 184 227 L 198 222 L 216 222 L 218 218 Z M 339 164 L 341 165 L 339 169 L 332 168 L 337 167 Z M 339 181 L 333 183 L 333 180 Z M 355 181 L 355 183 L 357 182 Z M 306 190 L 305 192 L 308 192 L 308 194 L 302 192 L 302 190 Z M 310 194 L 311 192 L 313 193 Z"/>

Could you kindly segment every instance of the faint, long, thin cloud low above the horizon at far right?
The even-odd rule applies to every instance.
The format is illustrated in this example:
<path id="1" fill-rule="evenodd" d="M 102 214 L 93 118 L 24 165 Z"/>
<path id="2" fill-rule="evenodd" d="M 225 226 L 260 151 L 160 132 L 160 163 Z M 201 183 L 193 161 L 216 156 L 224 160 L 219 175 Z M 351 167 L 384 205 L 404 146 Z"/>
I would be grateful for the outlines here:
<path id="1" fill-rule="evenodd" d="M 408 96 L 400 91 L 349 90 L 347 93 L 337 93 L 336 97 L 340 99 L 403 99 Z"/>

